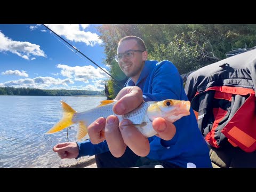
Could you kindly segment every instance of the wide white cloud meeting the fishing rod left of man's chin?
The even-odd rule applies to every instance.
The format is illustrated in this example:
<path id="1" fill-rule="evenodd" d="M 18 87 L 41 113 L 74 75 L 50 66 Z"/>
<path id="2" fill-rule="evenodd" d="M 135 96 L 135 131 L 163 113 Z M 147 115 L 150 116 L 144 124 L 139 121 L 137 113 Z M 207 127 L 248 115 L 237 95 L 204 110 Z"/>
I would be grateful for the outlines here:
<path id="1" fill-rule="evenodd" d="M 74 81 L 82 81 L 84 83 L 88 83 L 89 80 L 102 80 L 107 79 L 108 75 L 102 71 L 99 67 L 94 68 L 93 66 L 75 66 L 70 67 L 67 65 L 58 64 L 57 68 L 60 68 L 61 75 L 73 78 Z M 107 71 L 105 68 L 103 68 L 105 71 Z"/>

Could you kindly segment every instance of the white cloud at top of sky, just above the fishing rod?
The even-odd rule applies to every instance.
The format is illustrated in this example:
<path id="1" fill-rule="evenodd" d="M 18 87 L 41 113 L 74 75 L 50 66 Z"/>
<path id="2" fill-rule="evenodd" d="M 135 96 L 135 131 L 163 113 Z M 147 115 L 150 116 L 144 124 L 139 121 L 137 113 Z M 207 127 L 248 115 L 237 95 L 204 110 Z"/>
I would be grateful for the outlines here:
<path id="1" fill-rule="evenodd" d="M 87 24 L 45 24 L 47 27 L 52 29 L 55 33 L 60 36 L 66 37 L 70 41 L 74 42 L 84 42 L 86 45 L 94 46 L 95 44 L 101 44 L 102 40 L 99 39 L 99 36 L 90 31 L 80 30 L 85 29 L 89 25 Z"/>

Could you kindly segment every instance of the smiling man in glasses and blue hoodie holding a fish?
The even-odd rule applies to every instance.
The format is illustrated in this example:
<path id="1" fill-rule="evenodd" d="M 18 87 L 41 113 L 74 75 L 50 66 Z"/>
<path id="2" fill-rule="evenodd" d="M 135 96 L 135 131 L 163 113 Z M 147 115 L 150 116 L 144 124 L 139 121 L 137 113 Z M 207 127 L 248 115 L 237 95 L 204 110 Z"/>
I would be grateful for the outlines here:
<path id="1" fill-rule="evenodd" d="M 127 36 L 119 41 L 115 59 L 130 78 L 116 97 L 113 109 L 117 115 L 129 113 L 143 101 L 188 100 L 177 68 L 170 61 L 149 61 L 147 57 L 141 38 Z M 127 119 L 118 122 L 116 116 L 101 117 L 88 127 L 90 140 L 57 145 L 53 150 L 61 158 L 68 158 L 71 148 L 75 149 L 73 158 L 97 154 L 98 167 L 187 167 L 187 163 L 212 167 L 209 149 L 191 108 L 189 116 L 173 124 L 157 118 L 153 127 L 158 135 L 145 138 Z"/>

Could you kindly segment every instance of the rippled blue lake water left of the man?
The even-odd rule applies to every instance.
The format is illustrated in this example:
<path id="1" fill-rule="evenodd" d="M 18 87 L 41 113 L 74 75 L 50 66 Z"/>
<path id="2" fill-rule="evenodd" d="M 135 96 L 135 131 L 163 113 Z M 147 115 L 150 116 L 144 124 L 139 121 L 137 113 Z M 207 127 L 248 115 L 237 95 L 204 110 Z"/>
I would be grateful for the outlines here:
<path id="1" fill-rule="evenodd" d="M 68 138 L 67 129 L 44 135 L 62 117 L 60 100 L 82 112 L 98 106 L 106 97 L 0 95 L 0 167 L 59 167 L 81 161 L 61 159 L 52 150 L 67 139 L 75 141 L 77 125 L 68 129 Z"/>

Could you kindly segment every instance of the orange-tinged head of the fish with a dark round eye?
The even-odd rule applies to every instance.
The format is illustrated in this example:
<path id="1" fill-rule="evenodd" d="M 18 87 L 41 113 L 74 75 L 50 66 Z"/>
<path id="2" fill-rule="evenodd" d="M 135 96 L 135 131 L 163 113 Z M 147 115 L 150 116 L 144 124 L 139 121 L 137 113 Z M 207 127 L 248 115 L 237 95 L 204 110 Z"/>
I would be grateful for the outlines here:
<path id="1" fill-rule="evenodd" d="M 166 99 L 151 103 L 147 115 L 151 122 L 157 117 L 162 117 L 173 123 L 183 116 L 190 115 L 189 109 L 189 101 Z"/>

